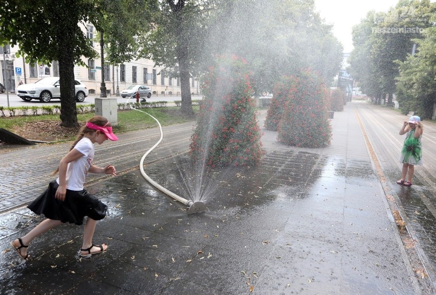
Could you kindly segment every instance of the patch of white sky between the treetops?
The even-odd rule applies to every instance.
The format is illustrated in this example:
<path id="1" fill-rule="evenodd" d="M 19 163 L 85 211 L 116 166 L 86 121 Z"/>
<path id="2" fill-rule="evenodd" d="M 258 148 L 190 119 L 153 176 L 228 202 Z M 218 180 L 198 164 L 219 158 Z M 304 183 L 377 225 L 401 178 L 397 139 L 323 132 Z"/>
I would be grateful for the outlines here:
<path id="1" fill-rule="evenodd" d="M 333 34 L 344 46 L 344 53 L 350 53 L 353 26 L 360 23 L 368 11 L 387 12 L 397 3 L 398 0 L 315 0 L 315 10 L 326 23 L 334 24 Z"/>

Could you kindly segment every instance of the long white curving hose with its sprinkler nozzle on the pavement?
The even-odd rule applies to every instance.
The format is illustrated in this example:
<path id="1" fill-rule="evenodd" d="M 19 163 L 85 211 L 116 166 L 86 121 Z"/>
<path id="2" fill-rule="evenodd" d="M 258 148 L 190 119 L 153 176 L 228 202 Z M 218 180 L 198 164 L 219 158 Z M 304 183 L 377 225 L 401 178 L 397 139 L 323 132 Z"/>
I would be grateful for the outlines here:
<path id="1" fill-rule="evenodd" d="M 128 103 L 128 100 L 127 100 Z M 201 202 L 201 201 L 197 201 L 197 202 L 193 202 L 192 200 L 186 200 L 184 198 L 182 198 L 180 195 L 170 191 L 169 189 L 163 187 L 162 185 L 160 185 L 159 183 L 157 183 L 156 181 L 152 180 L 144 171 L 144 160 L 145 157 L 147 157 L 147 155 L 149 153 L 151 153 L 152 150 L 155 149 L 156 146 L 159 145 L 159 143 L 161 143 L 162 139 L 163 139 L 163 131 L 162 131 L 162 126 L 160 124 L 160 122 L 158 121 L 158 119 L 156 119 L 154 116 L 150 115 L 149 113 L 146 113 L 144 111 L 132 108 L 134 110 L 137 110 L 139 112 L 143 112 L 144 114 L 149 115 L 151 118 L 153 118 L 157 124 L 159 125 L 159 130 L 161 132 L 161 138 L 158 140 L 158 142 L 155 143 L 155 145 L 153 145 L 141 158 L 141 161 L 139 162 L 139 170 L 141 171 L 142 176 L 154 187 L 156 187 L 157 189 L 159 189 L 160 191 L 162 191 L 163 193 L 169 195 L 171 198 L 185 204 L 188 207 L 188 214 L 193 214 L 193 213 L 200 213 L 200 212 L 204 212 L 206 211 L 206 205 Z"/>

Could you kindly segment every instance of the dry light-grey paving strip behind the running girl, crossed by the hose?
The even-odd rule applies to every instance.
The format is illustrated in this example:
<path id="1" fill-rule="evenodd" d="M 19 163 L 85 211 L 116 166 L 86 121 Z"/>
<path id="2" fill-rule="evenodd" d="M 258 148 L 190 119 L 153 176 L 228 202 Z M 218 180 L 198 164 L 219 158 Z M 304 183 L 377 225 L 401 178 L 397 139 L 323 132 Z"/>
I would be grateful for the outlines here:
<path id="1" fill-rule="evenodd" d="M 168 155 L 186 151 L 193 122 L 164 127 L 164 140 L 158 153 L 147 157 L 146 165 L 165 159 Z M 115 165 L 122 172 L 138 167 L 139 160 L 154 144 L 160 134 L 156 129 L 146 129 L 120 134 L 120 140 L 96 145 L 94 163 L 103 166 Z M 60 159 L 70 149 L 71 142 L 44 144 L 0 153 L 0 213 L 26 205 L 46 189 Z M 105 179 L 91 174 L 85 186 Z"/>

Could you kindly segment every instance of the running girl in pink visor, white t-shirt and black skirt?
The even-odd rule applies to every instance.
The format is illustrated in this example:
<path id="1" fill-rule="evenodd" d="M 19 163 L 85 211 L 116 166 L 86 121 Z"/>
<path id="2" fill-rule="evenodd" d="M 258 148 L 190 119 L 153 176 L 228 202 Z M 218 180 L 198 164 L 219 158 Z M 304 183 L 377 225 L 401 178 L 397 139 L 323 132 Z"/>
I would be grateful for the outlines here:
<path id="1" fill-rule="evenodd" d="M 21 258 L 28 260 L 27 247 L 37 236 L 61 223 L 81 225 L 85 216 L 88 218 L 84 227 L 80 256 L 89 257 L 107 249 L 105 244 L 92 243 L 97 220 L 106 216 L 107 206 L 83 189 L 88 173 L 116 176 L 114 166 L 107 165 L 102 168 L 93 164 L 94 143 L 102 144 L 106 139 L 118 140 L 106 118 L 94 116 L 82 127 L 70 152 L 60 160 L 58 168 L 53 173 L 59 173 L 57 180 L 50 182 L 47 190 L 28 206 L 36 214 L 44 214 L 47 219 L 25 236 L 10 242 Z"/>

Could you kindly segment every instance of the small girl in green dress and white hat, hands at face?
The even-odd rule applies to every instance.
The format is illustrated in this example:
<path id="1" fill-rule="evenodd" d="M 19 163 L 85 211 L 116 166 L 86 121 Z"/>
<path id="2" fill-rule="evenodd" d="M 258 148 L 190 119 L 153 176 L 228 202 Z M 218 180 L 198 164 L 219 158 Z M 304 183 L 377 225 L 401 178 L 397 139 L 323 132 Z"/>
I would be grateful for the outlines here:
<path id="1" fill-rule="evenodd" d="M 401 169 L 401 179 L 397 180 L 399 185 L 411 186 L 415 165 L 422 165 L 421 137 L 423 130 L 421 118 L 418 116 L 411 116 L 408 121 L 403 123 L 400 135 L 406 134 L 406 139 L 404 139 L 400 155 L 400 163 L 403 163 L 403 168 Z"/>

